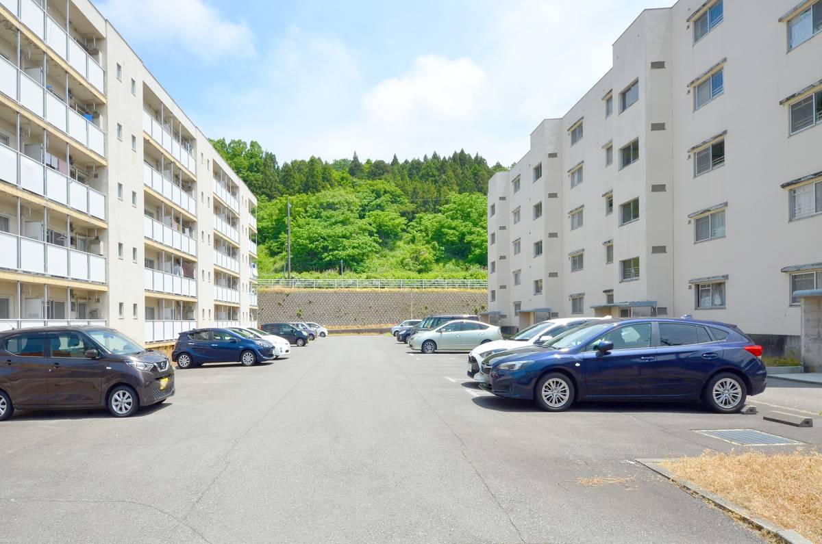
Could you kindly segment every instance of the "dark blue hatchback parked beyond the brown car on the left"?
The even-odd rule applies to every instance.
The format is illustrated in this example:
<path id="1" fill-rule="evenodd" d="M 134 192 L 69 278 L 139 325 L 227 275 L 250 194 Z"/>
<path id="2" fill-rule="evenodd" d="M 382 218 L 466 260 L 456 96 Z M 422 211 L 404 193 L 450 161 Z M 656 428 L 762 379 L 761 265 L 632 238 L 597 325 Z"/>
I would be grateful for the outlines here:
<path id="1" fill-rule="evenodd" d="M 229 329 L 196 329 L 180 333 L 171 360 L 180 369 L 204 362 L 242 362 L 251 367 L 274 359 L 274 345 L 263 339 L 247 339 Z"/>

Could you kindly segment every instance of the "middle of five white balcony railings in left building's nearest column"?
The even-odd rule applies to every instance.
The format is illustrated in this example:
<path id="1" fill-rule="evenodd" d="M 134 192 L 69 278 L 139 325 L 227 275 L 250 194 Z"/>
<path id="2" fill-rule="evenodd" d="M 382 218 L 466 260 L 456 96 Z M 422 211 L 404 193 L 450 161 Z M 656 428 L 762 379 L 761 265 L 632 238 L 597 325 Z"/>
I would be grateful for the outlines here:
<path id="1" fill-rule="evenodd" d="M 17 169 L 18 155 L 20 156 L 19 170 Z M 0 179 L 84 214 L 105 219 L 103 193 L 2 144 L 0 144 Z"/>

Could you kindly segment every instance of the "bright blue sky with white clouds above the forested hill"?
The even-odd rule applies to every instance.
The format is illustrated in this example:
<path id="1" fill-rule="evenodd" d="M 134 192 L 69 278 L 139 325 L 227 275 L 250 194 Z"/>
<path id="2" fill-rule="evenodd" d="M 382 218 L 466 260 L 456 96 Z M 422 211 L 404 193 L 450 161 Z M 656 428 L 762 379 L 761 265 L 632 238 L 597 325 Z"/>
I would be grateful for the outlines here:
<path id="1" fill-rule="evenodd" d="M 210 138 L 259 141 L 280 164 L 464 149 L 510 165 L 635 17 L 672 0 L 95 4 Z"/>

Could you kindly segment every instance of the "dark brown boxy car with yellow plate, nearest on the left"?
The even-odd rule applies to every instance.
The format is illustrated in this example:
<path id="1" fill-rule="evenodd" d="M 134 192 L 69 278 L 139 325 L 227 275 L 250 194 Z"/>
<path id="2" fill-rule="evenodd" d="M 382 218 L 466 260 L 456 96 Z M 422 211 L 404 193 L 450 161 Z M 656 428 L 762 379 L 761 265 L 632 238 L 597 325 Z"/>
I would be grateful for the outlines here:
<path id="1" fill-rule="evenodd" d="M 104 327 L 0 333 L 0 421 L 15 409 L 109 408 L 132 416 L 174 394 L 169 358 Z"/>

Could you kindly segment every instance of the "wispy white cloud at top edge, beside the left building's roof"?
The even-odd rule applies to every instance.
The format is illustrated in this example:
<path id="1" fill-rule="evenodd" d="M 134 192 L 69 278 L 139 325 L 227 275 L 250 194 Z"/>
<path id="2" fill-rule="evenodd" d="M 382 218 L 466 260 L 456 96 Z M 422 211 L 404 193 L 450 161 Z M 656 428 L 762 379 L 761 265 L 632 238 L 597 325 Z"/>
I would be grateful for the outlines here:
<path id="1" fill-rule="evenodd" d="M 132 42 L 143 47 L 173 45 L 205 61 L 252 57 L 252 31 L 203 0 L 105 0 L 103 15 Z"/>

